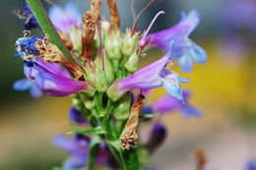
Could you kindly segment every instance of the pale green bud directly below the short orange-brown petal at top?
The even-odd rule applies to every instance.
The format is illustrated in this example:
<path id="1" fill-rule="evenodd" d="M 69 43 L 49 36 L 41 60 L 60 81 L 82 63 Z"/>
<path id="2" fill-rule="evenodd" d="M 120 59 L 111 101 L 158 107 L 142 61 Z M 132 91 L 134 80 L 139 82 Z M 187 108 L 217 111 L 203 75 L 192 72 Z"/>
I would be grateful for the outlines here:
<path id="1" fill-rule="evenodd" d="M 104 37 L 104 48 L 109 59 L 121 59 L 122 38 L 119 30 L 112 30 Z"/>

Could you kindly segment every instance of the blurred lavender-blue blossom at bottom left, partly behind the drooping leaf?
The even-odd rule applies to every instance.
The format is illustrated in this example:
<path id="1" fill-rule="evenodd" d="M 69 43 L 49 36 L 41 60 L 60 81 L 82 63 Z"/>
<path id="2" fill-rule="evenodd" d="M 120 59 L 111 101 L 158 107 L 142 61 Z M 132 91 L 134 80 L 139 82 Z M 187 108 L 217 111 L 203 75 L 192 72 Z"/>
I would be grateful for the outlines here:
<path id="1" fill-rule="evenodd" d="M 74 170 L 87 166 L 90 139 L 84 135 L 75 135 L 73 140 L 64 136 L 53 138 L 53 143 L 67 151 L 70 156 L 63 163 L 63 170 Z M 99 144 L 97 164 L 107 163 L 109 152 L 104 143 Z"/>

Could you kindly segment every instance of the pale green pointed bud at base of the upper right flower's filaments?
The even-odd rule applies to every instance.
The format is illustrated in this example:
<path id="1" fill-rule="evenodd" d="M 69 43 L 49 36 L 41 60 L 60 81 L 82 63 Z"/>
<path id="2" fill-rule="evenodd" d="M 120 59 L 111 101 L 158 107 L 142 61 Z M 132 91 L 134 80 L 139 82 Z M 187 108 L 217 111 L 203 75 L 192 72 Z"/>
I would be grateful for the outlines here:
<path id="1" fill-rule="evenodd" d="M 139 33 L 136 32 L 132 34 L 130 29 L 127 29 L 123 37 L 122 43 L 122 54 L 125 56 L 130 56 L 136 52 L 139 43 Z"/>

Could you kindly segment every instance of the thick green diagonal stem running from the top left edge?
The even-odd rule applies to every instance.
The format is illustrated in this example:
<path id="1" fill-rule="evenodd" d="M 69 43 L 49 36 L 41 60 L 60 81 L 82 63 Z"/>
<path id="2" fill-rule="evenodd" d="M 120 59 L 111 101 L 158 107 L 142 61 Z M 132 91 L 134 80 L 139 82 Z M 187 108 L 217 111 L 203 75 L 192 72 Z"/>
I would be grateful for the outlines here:
<path id="1" fill-rule="evenodd" d="M 45 34 L 48 34 L 51 42 L 63 52 L 67 59 L 74 63 L 72 55 L 61 40 L 58 32 L 55 30 L 52 23 L 50 22 L 41 2 L 39 0 L 26 0 L 26 2 L 29 4 L 30 9 L 32 10 L 32 14 L 35 17 L 42 31 Z"/>

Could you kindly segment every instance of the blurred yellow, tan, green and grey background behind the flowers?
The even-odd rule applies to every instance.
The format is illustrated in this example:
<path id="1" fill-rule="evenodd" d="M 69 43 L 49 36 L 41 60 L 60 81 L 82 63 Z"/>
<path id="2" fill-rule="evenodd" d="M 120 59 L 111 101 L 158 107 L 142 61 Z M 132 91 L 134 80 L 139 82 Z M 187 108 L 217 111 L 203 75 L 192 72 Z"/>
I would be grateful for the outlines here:
<path id="1" fill-rule="evenodd" d="M 52 1 L 59 5 L 67 2 Z M 74 1 L 81 13 L 89 8 L 87 0 Z M 148 2 L 135 3 L 137 14 Z M 13 90 L 13 83 L 24 78 L 23 62 L 13 57 L 15 41 L 23 36 L 24 21 L 12 12 L 22 9 L 21 3 L 0 1 L 0 170 L 48 170 L 61 165 L 67 156 L 51 139 L 70 131 L 71 99 L 33 99 L 28 91 Z M 132 26 L 130 3 L 118 0 L 123 29 Z M 43 4 L 46 9 L 50 7 Z M 184 88 L 192 91 L 191 103 L 204 116 L 186 120 L 179 113 L 167 115 L 163 123 L 168 127 L 168 138 L 149 165 L 158 170 L 193 170 L 193 151 L 202 148 L 209 166 L 242 170 L 248 160 L 256 158 L 256 0 L 156 0 L 140 18 L 138 28 L 146 29 L 160 10 L 165 15 L 160 16 L 151 32 L 169 28 L 179 21 L 180 11 L 187 13 L 191 9 L 201 14 L 201 23 L 191 37 L 206 49 L 209 59 L 204 65 L 196 65 L 190 74 L 182 73 L 176 64 L 173 70 L 191 79 Z M 102 13 L 107 19 L 108 11 L 103 9 Z M 143 65 L 161 55 L 152 50 Z M 157 89 L 154 99 L 163 93 Z"/>

